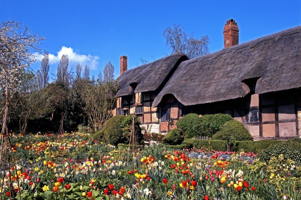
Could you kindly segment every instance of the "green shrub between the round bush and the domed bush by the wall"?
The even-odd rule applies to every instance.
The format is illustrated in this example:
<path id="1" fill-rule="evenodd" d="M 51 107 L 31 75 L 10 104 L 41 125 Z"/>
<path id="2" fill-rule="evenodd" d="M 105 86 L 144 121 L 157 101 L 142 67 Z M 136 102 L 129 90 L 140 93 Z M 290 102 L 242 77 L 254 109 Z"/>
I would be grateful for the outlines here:
<path id="1" fill-rule="evenodd" d="M 228 114 L 218 113 L 214 115 L 203 115 L 201 119 L 201 125 L 204 131 L 203 135 L 211 137 L 221 130 L 227 121 L 232 120 L 232 117 Z"/>

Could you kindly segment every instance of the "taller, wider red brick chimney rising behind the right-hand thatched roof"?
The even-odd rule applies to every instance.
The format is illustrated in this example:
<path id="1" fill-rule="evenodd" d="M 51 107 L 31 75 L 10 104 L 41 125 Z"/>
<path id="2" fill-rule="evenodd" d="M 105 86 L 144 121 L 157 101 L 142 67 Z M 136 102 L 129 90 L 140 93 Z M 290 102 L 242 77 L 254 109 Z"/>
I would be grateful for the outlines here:
<path id="1" fill-rule="evenodd" d="M 223 33 L 225 48 L 238 44 L 238 26 L 233 19 L 227 21 Z"/>

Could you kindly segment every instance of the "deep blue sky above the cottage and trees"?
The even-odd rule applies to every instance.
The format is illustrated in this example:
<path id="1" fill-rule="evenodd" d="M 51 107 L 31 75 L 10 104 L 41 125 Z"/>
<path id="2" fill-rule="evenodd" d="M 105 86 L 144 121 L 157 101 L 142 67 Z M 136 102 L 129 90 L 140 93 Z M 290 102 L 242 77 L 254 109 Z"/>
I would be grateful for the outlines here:
<path id="1" fill-rule="evenodd" d="M 239 43 L 301 25 L 296 1 L 6 1 L 0 21 L 17 20 L 47 39 L 41 48 L 52 55 L 56 73 L 59 56 L 70 54 L 75 63 L 88 64 L 97 76 L 111 61 L 119 75 L 119 58 L 128 56 L 128 69 L 139 58 L 153 61 L 169 53 L 163 30 L 173 23 L 195 37 L 208 35 L 210 52 L 222 49 L 223 27 L 234 19 Z M 40 61 L 33 64 L 37 70 Z"/>

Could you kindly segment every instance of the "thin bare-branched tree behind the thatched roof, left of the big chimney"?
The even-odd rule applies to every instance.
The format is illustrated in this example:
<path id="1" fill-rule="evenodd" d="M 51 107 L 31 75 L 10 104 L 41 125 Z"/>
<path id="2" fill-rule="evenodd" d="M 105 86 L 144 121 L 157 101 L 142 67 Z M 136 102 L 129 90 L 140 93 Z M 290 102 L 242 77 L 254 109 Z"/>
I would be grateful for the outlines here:
<path id="1" fill-rule="evenodd" d="M 185 33 L 184 27 L 181 27 L 180 24 L 166 27 L 163 36 L 171 53 L 182 52 L 188 58 L 197 58 L 209 53 L 208 44 L 210 40 L 208 35 L 194 38 L 193 34 Z"/>

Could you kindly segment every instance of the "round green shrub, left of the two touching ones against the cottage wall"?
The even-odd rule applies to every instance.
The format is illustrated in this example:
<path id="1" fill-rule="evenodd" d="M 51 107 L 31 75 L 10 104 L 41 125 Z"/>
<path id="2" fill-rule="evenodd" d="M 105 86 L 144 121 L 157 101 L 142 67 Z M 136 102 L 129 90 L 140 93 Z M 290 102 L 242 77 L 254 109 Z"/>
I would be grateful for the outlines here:
<path id="1" fill-rule="evenodd" d="M 195 113 L 190 113 L 185 115 L 183 118 L 180 118 L 176 125 L 180 129 L 185 138 L 192 138 L 200 136 L 202 133 L 201 129 L 201 118 Z"/>

